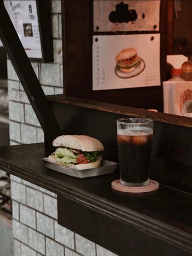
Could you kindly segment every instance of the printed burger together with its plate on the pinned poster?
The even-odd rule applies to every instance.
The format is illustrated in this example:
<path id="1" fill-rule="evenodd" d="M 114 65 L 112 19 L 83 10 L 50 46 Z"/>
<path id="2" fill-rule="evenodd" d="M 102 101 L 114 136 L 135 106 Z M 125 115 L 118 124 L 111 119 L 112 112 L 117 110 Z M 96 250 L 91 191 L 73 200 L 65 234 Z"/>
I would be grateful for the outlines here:
<path id="1" fill-rule="evenodd" d="M 118 53 L 115 57 L 115 73 L 118 77 L 134 77 L 144 70 L 145 63 L 137 54 L 137 50 L 133 47 L 122 49 L 121 52 Z"/>

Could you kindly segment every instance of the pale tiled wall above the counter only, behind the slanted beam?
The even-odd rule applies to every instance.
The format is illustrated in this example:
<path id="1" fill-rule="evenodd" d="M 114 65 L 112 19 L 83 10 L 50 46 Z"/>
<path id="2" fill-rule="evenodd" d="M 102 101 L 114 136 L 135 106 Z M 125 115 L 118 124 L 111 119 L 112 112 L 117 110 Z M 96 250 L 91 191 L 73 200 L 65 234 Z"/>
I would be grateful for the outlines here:
<path id="1" fill-rule="evenodd" d="M 52 1 L 52 35 L 54 63 L 31 63 L 46 95 L 63 94 L 60 1 Z M 7 66 L 10 145 L 42 142 L 44 135 L 41 126 L 10 60 Z"/>

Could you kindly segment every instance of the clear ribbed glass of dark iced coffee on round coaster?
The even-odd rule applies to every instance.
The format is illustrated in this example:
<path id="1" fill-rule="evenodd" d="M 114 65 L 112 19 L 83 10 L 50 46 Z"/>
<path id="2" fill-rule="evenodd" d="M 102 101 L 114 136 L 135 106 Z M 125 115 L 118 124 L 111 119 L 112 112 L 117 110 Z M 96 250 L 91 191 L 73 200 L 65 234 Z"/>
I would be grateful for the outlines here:
<path id="1" fill-rule="evenodd" d="M 122 185 L 135 187 L 149 184 L 152 139 L 152 119 L 117 120 L 118 159 Z"/>

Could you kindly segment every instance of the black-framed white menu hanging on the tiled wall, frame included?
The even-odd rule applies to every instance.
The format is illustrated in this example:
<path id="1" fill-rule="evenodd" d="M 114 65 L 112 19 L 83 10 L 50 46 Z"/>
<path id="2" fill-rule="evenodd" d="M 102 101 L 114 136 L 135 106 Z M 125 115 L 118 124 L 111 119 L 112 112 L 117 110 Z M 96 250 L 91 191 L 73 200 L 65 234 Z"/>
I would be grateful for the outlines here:
<path id="1" fill-rule="evenodd" d="M 4 1 L 22 46 L 32 62 L 53 62 L 50 1 Z"/>

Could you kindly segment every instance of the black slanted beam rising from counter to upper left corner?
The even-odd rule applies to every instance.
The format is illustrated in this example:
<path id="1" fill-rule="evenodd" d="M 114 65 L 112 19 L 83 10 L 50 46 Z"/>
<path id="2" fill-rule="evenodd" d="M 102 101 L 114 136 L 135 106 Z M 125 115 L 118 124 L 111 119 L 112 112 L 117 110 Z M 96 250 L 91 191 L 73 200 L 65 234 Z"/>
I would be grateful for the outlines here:
<path id="1" fill-rule="evenodd" d="M 47 142 L 52 145 L 52 141 L 61 134 L 59 124 L 49 106 L 3 1 L 0 1 L 0 39 L 36 113 Z"/>

